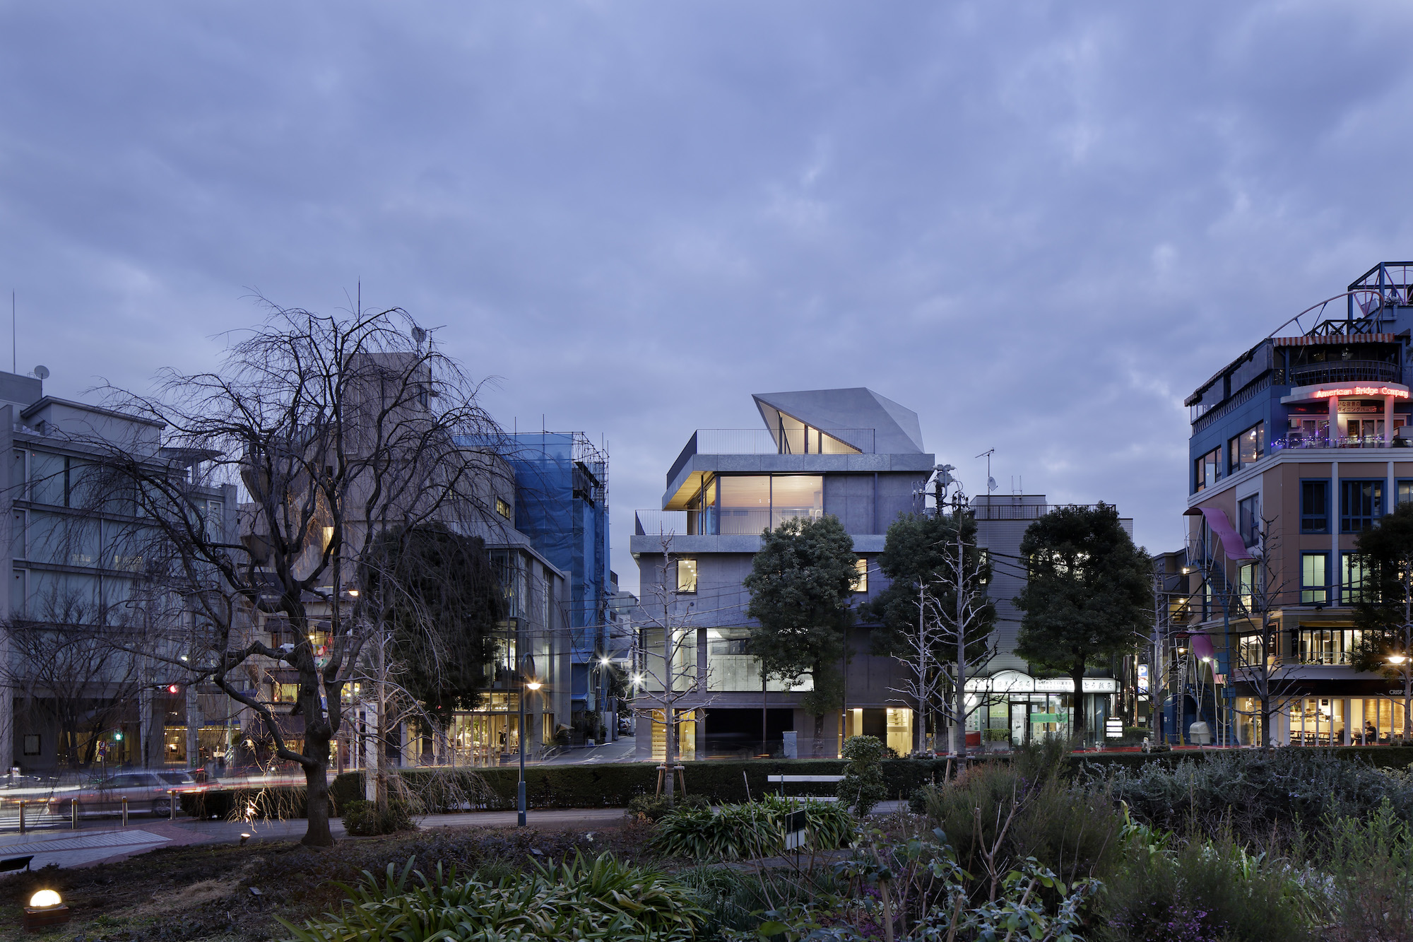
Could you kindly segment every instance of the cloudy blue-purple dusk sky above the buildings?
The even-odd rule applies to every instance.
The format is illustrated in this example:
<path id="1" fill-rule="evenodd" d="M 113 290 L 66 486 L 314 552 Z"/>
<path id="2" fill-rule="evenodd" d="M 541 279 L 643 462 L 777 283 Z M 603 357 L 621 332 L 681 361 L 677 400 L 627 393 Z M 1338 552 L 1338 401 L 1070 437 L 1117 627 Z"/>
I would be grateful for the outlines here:
<path id="1" fill-rule="evenodd" d="M 1413 256 L 1409 37 L 1378 1 L 7 0 L 0 289 L 79 396 L 362 281 L 506 426 L 608 441 L 629 587 L 691 430 L 828 386 L 968 491 L 995 448 L 1000 492 L 1171 549 L 1183 397 Z"/>

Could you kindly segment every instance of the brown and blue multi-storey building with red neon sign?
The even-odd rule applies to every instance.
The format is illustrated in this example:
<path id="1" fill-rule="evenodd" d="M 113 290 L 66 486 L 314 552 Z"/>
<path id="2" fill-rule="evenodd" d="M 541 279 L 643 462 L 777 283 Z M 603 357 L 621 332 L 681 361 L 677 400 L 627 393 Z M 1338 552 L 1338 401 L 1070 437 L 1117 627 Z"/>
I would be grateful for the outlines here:
<path id="1" fill-rule="evenodd" d="M 1413 496 L 1409 335 L 1413 263 L 1385 262 L 1337 303 L 1291 318 L 1221 366 L 1186 405 L 1190 618 L 1167 697 L 1170 735 L 1204 721 L 1253 743 L 1256 668 L 1280 702 L 1280 743 L 1386 740 L 1403 728 L 1388 679 L 1348 663 L 1358 533 Z M 1413 455 L 1413 453 L 1407 453 Z M 1279 625 L 1265 655 L 1260 610 Z M 1205 699 L 1202 694 L 1205 693 Z"/>

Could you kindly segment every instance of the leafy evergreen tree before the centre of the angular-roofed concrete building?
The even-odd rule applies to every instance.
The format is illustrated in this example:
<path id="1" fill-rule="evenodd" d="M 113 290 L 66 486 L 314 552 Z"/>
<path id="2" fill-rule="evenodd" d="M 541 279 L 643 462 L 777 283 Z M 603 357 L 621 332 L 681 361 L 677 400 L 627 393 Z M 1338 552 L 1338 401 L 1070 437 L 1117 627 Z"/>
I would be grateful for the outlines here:
<path id="1" fill-rule="evenodd" d="M 853 537 L 839 519 L 790 519 L 762 535 L 745 587 L 750 649 L 767 673 L 786 680 L 808 676 L 814 689 L 801 707 L 824 735 L 824 714 L 844 704 L 845 632 L 853 622 L 849 601 L 855 570 Z"/>

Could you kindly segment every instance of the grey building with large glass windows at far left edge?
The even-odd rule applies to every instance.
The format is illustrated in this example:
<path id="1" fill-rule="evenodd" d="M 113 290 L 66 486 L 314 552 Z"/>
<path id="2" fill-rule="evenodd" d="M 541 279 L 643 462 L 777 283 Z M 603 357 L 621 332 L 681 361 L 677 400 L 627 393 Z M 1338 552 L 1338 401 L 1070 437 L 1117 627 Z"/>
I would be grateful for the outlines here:
<path id="1" fill-rule="evenodd" d="M 174 477 L 192 474 L 202 457 L 164 448 L 151 420 L 45 396 L 41 378 L 0 373 L 10 455 L 0 754 L 24 772 L 187 767 L 223 755 L 240 737 L 236 710 L 212 686 L 177 683 L 179 672 L 157 656 L 175 652 L 144 648 L 191 612 L 148 591 L 153 533 L 134 501 L 107 492 L 96 471 L 112 450 Z M 232 542 L 235 491 L 194 491 L 208 525 Z"/>

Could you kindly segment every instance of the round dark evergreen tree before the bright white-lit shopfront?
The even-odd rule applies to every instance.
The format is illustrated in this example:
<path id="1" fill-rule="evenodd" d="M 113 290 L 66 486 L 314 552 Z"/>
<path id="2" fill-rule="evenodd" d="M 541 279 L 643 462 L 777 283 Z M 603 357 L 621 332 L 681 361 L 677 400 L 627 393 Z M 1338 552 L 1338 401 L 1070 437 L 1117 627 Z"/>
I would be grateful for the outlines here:
<path id="1" fill-rule="evenodd" d="M 1152 563 L 1108 504 L 1046 513 L 1020 539 L 1029 581 L 1016 653 L 1074 680 L 1075 730 L 1085 728 L 1084 672 L 1129 653 L 1153 617 Z"/>

